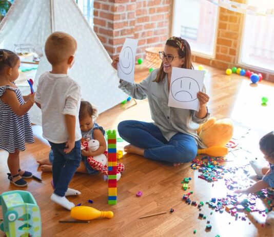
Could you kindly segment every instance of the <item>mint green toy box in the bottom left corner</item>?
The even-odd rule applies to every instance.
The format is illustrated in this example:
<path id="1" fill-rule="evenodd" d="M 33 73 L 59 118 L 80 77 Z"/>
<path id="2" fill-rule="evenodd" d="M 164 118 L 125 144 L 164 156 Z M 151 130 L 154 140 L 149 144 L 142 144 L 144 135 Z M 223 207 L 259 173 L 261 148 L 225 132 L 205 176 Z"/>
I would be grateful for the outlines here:
<path id="1" fill-rule="evenodd" d="M 3 222 L 0 229 L 7 236 L 41 236 L 41 214 L 32 194 L 9 191 L 0 195 Z"/>

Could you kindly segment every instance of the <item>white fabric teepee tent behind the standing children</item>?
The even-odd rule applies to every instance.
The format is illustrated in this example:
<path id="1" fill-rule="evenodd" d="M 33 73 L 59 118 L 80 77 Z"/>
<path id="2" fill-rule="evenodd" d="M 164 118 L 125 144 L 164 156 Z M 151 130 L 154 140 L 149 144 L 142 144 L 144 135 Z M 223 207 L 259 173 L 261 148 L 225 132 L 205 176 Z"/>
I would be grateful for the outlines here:
<path id="1" fill-rule="evenodd" d="M 82 97 L 103 112 L 127 98 L 118 88 L 119 78 L 111 67 L 111 58 L 90 28 L 73 0 L 16 0 L 0 24 L 0 48 L 14 51 L 15 46 L 33 47 L 35 51 L 44 45 L 54 31 L 72 35 L 78 44 L 75 63 L 69 75 L 80 84 Z M 43 56 L 34 80 L 50 70 Z M 36 106 L 30 110 L 31 122 L 41 125 L 41 111 Z"/>

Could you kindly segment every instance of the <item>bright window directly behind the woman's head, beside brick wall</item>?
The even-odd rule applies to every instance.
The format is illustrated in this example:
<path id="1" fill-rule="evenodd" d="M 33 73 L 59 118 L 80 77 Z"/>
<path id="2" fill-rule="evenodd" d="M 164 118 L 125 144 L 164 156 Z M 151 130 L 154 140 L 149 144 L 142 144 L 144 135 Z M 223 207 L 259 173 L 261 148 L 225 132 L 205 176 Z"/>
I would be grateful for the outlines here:
<path id="1" fill-rule="evenodd" d="M 172 34 L 185 38 L 191 51 L 213 56 L 218 7 L 207 0 L 175 0 Z"/>

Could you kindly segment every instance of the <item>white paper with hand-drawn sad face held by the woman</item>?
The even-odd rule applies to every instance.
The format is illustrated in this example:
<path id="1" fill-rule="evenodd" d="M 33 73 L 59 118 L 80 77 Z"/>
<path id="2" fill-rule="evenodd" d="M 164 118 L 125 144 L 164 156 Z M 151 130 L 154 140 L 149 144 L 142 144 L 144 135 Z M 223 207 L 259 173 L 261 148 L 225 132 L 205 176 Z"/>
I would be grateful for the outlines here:
<path id="1" fill-rule="evenodd" d="M 204 71 L 172 68 L 168 106 L 199 111 L 197 93 L 204 86 Z"/>

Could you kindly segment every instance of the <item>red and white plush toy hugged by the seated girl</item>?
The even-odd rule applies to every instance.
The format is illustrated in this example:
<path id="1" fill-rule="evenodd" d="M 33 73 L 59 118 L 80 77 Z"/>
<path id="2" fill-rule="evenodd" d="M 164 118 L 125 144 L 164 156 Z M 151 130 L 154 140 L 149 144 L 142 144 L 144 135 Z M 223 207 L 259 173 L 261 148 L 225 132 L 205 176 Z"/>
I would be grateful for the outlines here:
<path id="1" fill-rule="evenodd" d="M 98 140 L 90 140 L 82 143 L 82 149 L 90 149 L 91 151 L 96 151 L 100 146 Z M 108 175 L 108 159 L 107 159 L 107 151 L 103 154 L 96 156 L 88 156 L 88 163 L 94 170 L 99 170 L 104 175 Z M 123 163 L 117 164 L 117 181 L 120 180 L 121 172 L 123 172 L 125 166 Z"/>

